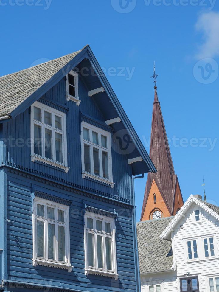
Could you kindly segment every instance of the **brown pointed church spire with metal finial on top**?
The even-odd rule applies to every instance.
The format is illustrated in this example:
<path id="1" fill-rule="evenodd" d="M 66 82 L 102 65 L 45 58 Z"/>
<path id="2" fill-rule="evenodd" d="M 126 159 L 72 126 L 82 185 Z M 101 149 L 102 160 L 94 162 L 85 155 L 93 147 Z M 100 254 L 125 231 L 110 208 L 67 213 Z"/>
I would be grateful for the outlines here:
<path id="1" fill-rule="evenodd" d="M 174 212 L 176 184 L 178 184 L 178 179 L 174 172 L 173 161 L 170 154 L 170 148 L 164 126 L 161 106 L 160 102 L 158 101 L 156 76 L 158 75 L 156 75 L 154 71 L 154 75 L 152 77 L 154 78 L 155 83 L 155 93 L 150 136 L 150 158 L 157 169 L 157 173 L 148 173 L 145 196 L 142 206 L 141 220 L 142 218 L 143 220 L 145 220 L 145 218 L 148 218 L 148 216 L 150 215 L 145 215 L 145 212 L 150 212 L 150 210 L 145 211 L 145 208 L 153 181 L 153 184 L 156 184 L 159 193 L 161 194 L 165 208 L 168 210 L 170 216 L 172 216 Z M 178 185 L 178 191 L 179 190 L 180 188 Z M 156 206 L 153 206 L 153 208 L 154 207 Z"/>

